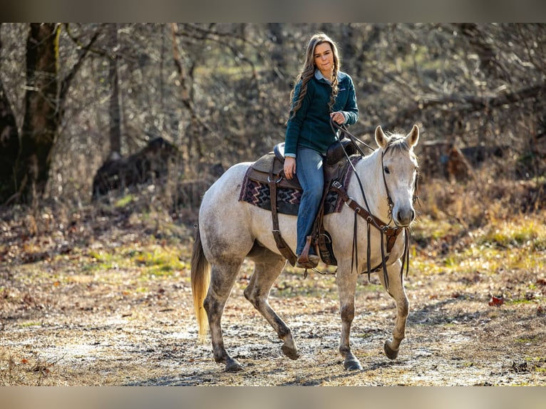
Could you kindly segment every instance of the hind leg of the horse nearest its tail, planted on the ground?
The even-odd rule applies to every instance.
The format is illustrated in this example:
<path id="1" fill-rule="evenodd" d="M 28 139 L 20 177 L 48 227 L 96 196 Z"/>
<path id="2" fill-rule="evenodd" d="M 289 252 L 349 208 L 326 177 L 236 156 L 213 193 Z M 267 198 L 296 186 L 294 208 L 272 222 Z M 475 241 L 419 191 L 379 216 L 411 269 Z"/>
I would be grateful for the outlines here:
<path id="1" fill-rule="evenodd" d="M 237 272 L 241 266 L 240 262 L 223 262 L 214 264 L 211 271 L 211 280 L 207 296 L 203 306 L 207 311 L 209 320 L 210 338 L 212 341 L 212 352 L 217 363 L 225 363 L 227 372 L 241 371 L 242 366 L 235 358 L 227 354 L 222 336 L 222 313 L 227 298 L 237 278 Z"/>

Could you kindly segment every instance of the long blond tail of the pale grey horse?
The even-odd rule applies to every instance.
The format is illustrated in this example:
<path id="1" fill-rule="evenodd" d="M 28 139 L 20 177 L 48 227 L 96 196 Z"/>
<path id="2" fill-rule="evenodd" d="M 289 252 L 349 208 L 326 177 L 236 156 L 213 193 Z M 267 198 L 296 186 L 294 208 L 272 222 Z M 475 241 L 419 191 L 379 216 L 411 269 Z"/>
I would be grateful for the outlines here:
<path id="1" fill-rule="evenodd" d="M 199 226 L 197 226 L 196 230 L 192 250 L 192 294 L 195 318 L 199 325 L 199 338 L 201 341 L 204 341 L 207 334 L 208 319 L 203 301 L 205 300 L 210 284 L 210 263 L 203 252 Z"/>

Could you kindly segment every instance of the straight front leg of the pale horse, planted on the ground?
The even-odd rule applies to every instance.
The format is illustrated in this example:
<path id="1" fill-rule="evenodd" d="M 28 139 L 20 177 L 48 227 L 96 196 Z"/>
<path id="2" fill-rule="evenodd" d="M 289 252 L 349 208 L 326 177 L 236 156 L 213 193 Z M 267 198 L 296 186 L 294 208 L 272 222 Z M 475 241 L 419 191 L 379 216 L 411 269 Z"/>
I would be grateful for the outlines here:
<path id="1" fill-rule="evenodd" d="M 341 266 L 340 266 L 341 267 Z M 349 269 L 338 269 L 336 283 L 339 291 L 339 309 L 341 311 L 341 340 L 339 353 L 345 358 L 344 367 L 350 371 L 360 371 L 360 361 L 351 352 L 351 324 L 354 319 L 354 296 L 358 273 Z"/>

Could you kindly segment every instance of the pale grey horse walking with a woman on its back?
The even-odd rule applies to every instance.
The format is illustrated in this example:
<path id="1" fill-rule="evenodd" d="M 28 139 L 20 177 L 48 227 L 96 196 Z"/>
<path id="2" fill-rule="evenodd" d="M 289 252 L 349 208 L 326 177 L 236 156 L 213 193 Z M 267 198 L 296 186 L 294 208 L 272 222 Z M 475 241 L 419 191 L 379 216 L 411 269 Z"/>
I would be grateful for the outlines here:
<path id="1" fill-rule="evenodd" d="M 416 199 L 418 162 L 413 147 L 418 139 L 417 125 L 413 125 L 407 135 L 386 134 L 378 126 L 375 130 L 377 147 L 372 148 L 374 151 L 371 154 L 361 155 L 361 160 L 354 165 L 356 177 L 351 177 L 346 187 L 353 204 L 366 202 L 370 214 L 403 229 L 390 253 L 383 253 L 386 241 L 383 229 L 366 228 L 370 219 L 356 222 L 354 214 L 359 207 L 342 206 L 340 212 L 324 216 L 324 227 L 331 234 L 337 259 L 336 286 L 341 312 L 339 353 L 347 370 L 362 369 L 359 359 L 351 352 L 349 341 L 355 314 L 357 277 L 359 272 L 364 272 L 355 271 L 354 259 L 363 260 L 368 266 L 381 266 L 376 271 L 383 269 L 384 274 L 378 274 L 378 277 L 383 288 L 396 301 L 392 339 L 387 339 L 383 344 L 388 358 L 398 356 L 400 343 L 405 336 L 409 302 L 403 286 L 403 256 L 408 250 L 408 227 L 416 217 L 413 202 Z M 249 165 L 250 162 L 233 165 L 205 192 L 192 249 L 191 283 L 199 336 L 205 340 L 208 323 L 214 359 L 217 363 L 223 363 L 227 372 L 243 369 L 226 351 L 221 320 L 245 258 L 254 262 L 254 271 L 244 289 L 244 297 L 277 332 L 283 341 L 281 349 L 284 355 L 294 360 L 299 358 L 289 326 L 268 301 L 274 281 L 287 264 L 272 235 L 271 212 L 239 201 L 239 191 Z M 296 244 L 296 225 L 296 216 L 279 214 L 279 229 L 291 249 Z M 358 269 L 359 263 L 356 264 Z"/>

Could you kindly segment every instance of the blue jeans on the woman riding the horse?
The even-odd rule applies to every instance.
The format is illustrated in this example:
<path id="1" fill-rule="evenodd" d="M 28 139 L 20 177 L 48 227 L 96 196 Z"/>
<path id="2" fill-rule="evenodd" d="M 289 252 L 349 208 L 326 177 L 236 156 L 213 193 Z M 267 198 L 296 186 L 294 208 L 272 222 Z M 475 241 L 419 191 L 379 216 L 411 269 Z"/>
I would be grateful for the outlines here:
<path id="1" fill-rule="evenodd" d="M 296 155 L 296 174 L 302 185 L 299 203 L 296 254 L 302 254 L 307 236 L 311 234 L 324 189 L 323 157 L 309 147 L 299 147 Z M 312 252 L 311 254 L 314 254 Z"/>

